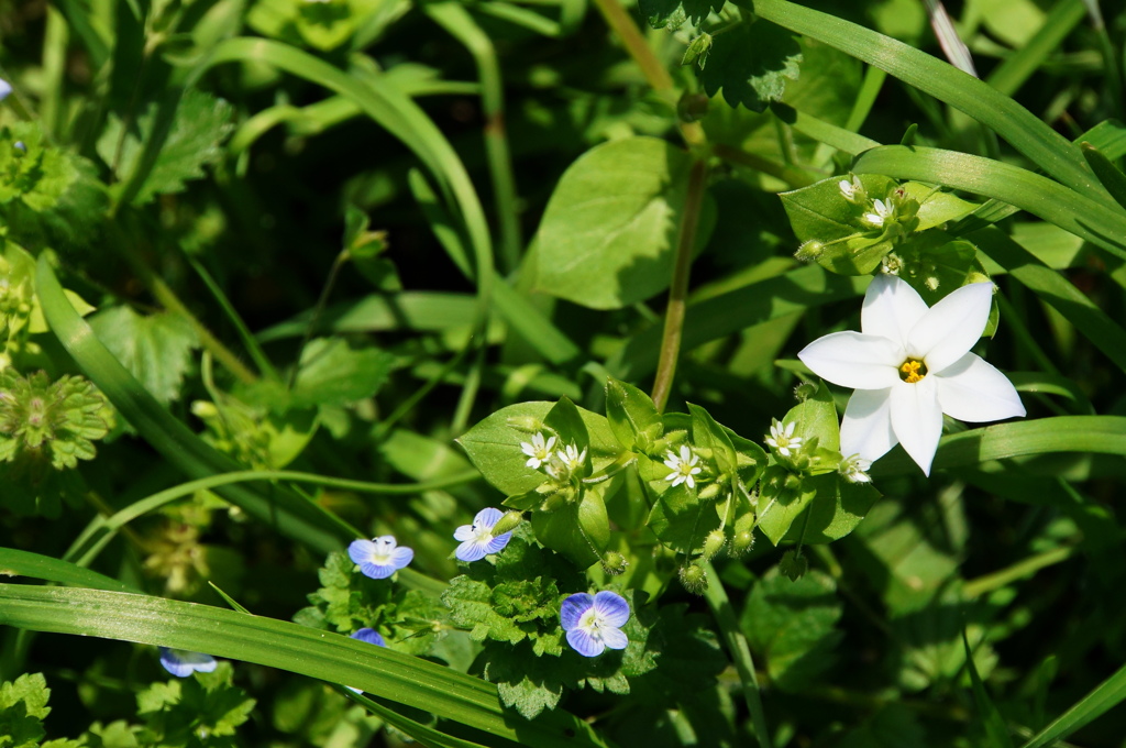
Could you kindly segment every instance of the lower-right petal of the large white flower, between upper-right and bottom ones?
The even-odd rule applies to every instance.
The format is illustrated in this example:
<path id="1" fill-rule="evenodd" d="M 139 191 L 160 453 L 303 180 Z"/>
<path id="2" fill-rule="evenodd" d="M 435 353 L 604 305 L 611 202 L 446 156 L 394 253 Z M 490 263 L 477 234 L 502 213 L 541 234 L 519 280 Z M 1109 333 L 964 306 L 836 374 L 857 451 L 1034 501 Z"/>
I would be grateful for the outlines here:
<path id="1" fill-rule="evenodd" d="M 938 404 L 951 418 L 982 424 L 1025 415 L 1012 383 L 974 354 L 966 354 L 933 376 L 938 383 Z"/>

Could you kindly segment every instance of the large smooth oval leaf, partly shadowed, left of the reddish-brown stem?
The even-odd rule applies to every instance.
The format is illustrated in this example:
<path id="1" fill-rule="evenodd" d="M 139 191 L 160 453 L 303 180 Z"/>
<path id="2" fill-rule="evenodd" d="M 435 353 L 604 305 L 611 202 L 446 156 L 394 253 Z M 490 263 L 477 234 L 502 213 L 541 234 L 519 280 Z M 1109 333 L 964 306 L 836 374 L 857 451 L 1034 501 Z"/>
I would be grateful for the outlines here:
<path id="1" fill-rule="evenodd" d="M 535 290 L 620 309 L 668 288 L 690 167 L 685 151 L 655 137 L 610 141 L 580 157 L 539 224 Z M 708 216 L 698 247 L 707 242 Z"/>

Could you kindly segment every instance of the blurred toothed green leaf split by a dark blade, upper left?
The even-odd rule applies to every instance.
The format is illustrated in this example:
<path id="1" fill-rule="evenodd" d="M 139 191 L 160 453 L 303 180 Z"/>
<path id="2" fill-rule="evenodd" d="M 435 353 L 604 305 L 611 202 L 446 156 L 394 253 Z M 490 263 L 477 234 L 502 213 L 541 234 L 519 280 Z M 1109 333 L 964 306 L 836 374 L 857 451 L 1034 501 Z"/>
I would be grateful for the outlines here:
<path id="1" fill-rule="evenodd" d="M 220 145 L 231 132 L 232 113 L 233 108 L 223 99 L 197 89 L 187 91 L 176 109 L 176 118 L 157 162 L 133 203 L 143 205 L 157 195 L 184 192 L 186 181 L 206 176 L 204 166 L 214 163 L 223 155 Z M 142 158 L 145 141 L 153 136 L 155 124 L 155 104 L 150 104 L 129 130 L 111 116 L 98 139 L 98 154 L 106 163 L 116 164 L 118 175 L 133 173 Z M 116 160 L 118 143 L 122 144 L 120 159 Z"/>

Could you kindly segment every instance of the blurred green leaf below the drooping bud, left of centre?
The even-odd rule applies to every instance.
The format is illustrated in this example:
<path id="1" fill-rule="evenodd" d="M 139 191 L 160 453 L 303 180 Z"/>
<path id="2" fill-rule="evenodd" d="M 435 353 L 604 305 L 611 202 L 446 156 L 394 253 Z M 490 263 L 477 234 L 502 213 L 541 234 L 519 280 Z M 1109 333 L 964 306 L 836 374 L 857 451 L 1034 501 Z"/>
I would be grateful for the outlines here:
<path id="1" fill-rule="evenodd" d="M 370 398 L 391 375 L 395 357 L 378 348 L 352 348 L 340 338 L 311 340 L 289 393 L 289 406 L 346 406 Z"/>

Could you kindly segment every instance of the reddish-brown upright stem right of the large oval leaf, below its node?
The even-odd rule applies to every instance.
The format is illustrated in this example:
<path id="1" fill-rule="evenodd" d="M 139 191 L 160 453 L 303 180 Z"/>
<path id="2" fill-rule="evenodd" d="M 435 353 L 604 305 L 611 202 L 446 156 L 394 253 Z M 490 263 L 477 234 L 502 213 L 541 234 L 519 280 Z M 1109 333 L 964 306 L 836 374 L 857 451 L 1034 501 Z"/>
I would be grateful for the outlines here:
<path id="1" fill-rule="evenodd" d="M 704 188 L 707 182 L 707 164 L 695 161 L 688 175 L 688 195 L 685 213 L 680 222 L 680 239 L 677 259 L 672 268 L 672 286 L 669 288 L 669 305 L 664 310 L 664 335 L 658 357 L 656 376 L 653 380 L 653 402 L 658 410 L 664 410 L 672 392 L 672 380 L 680 357 L 680 339 L 685 327 L 685 308 L 688 300 L 688 277 L 692 265 L 692 248 L 696 244 L 696 229 L 699 224 L 700 206 L 704 204 Z"/>

